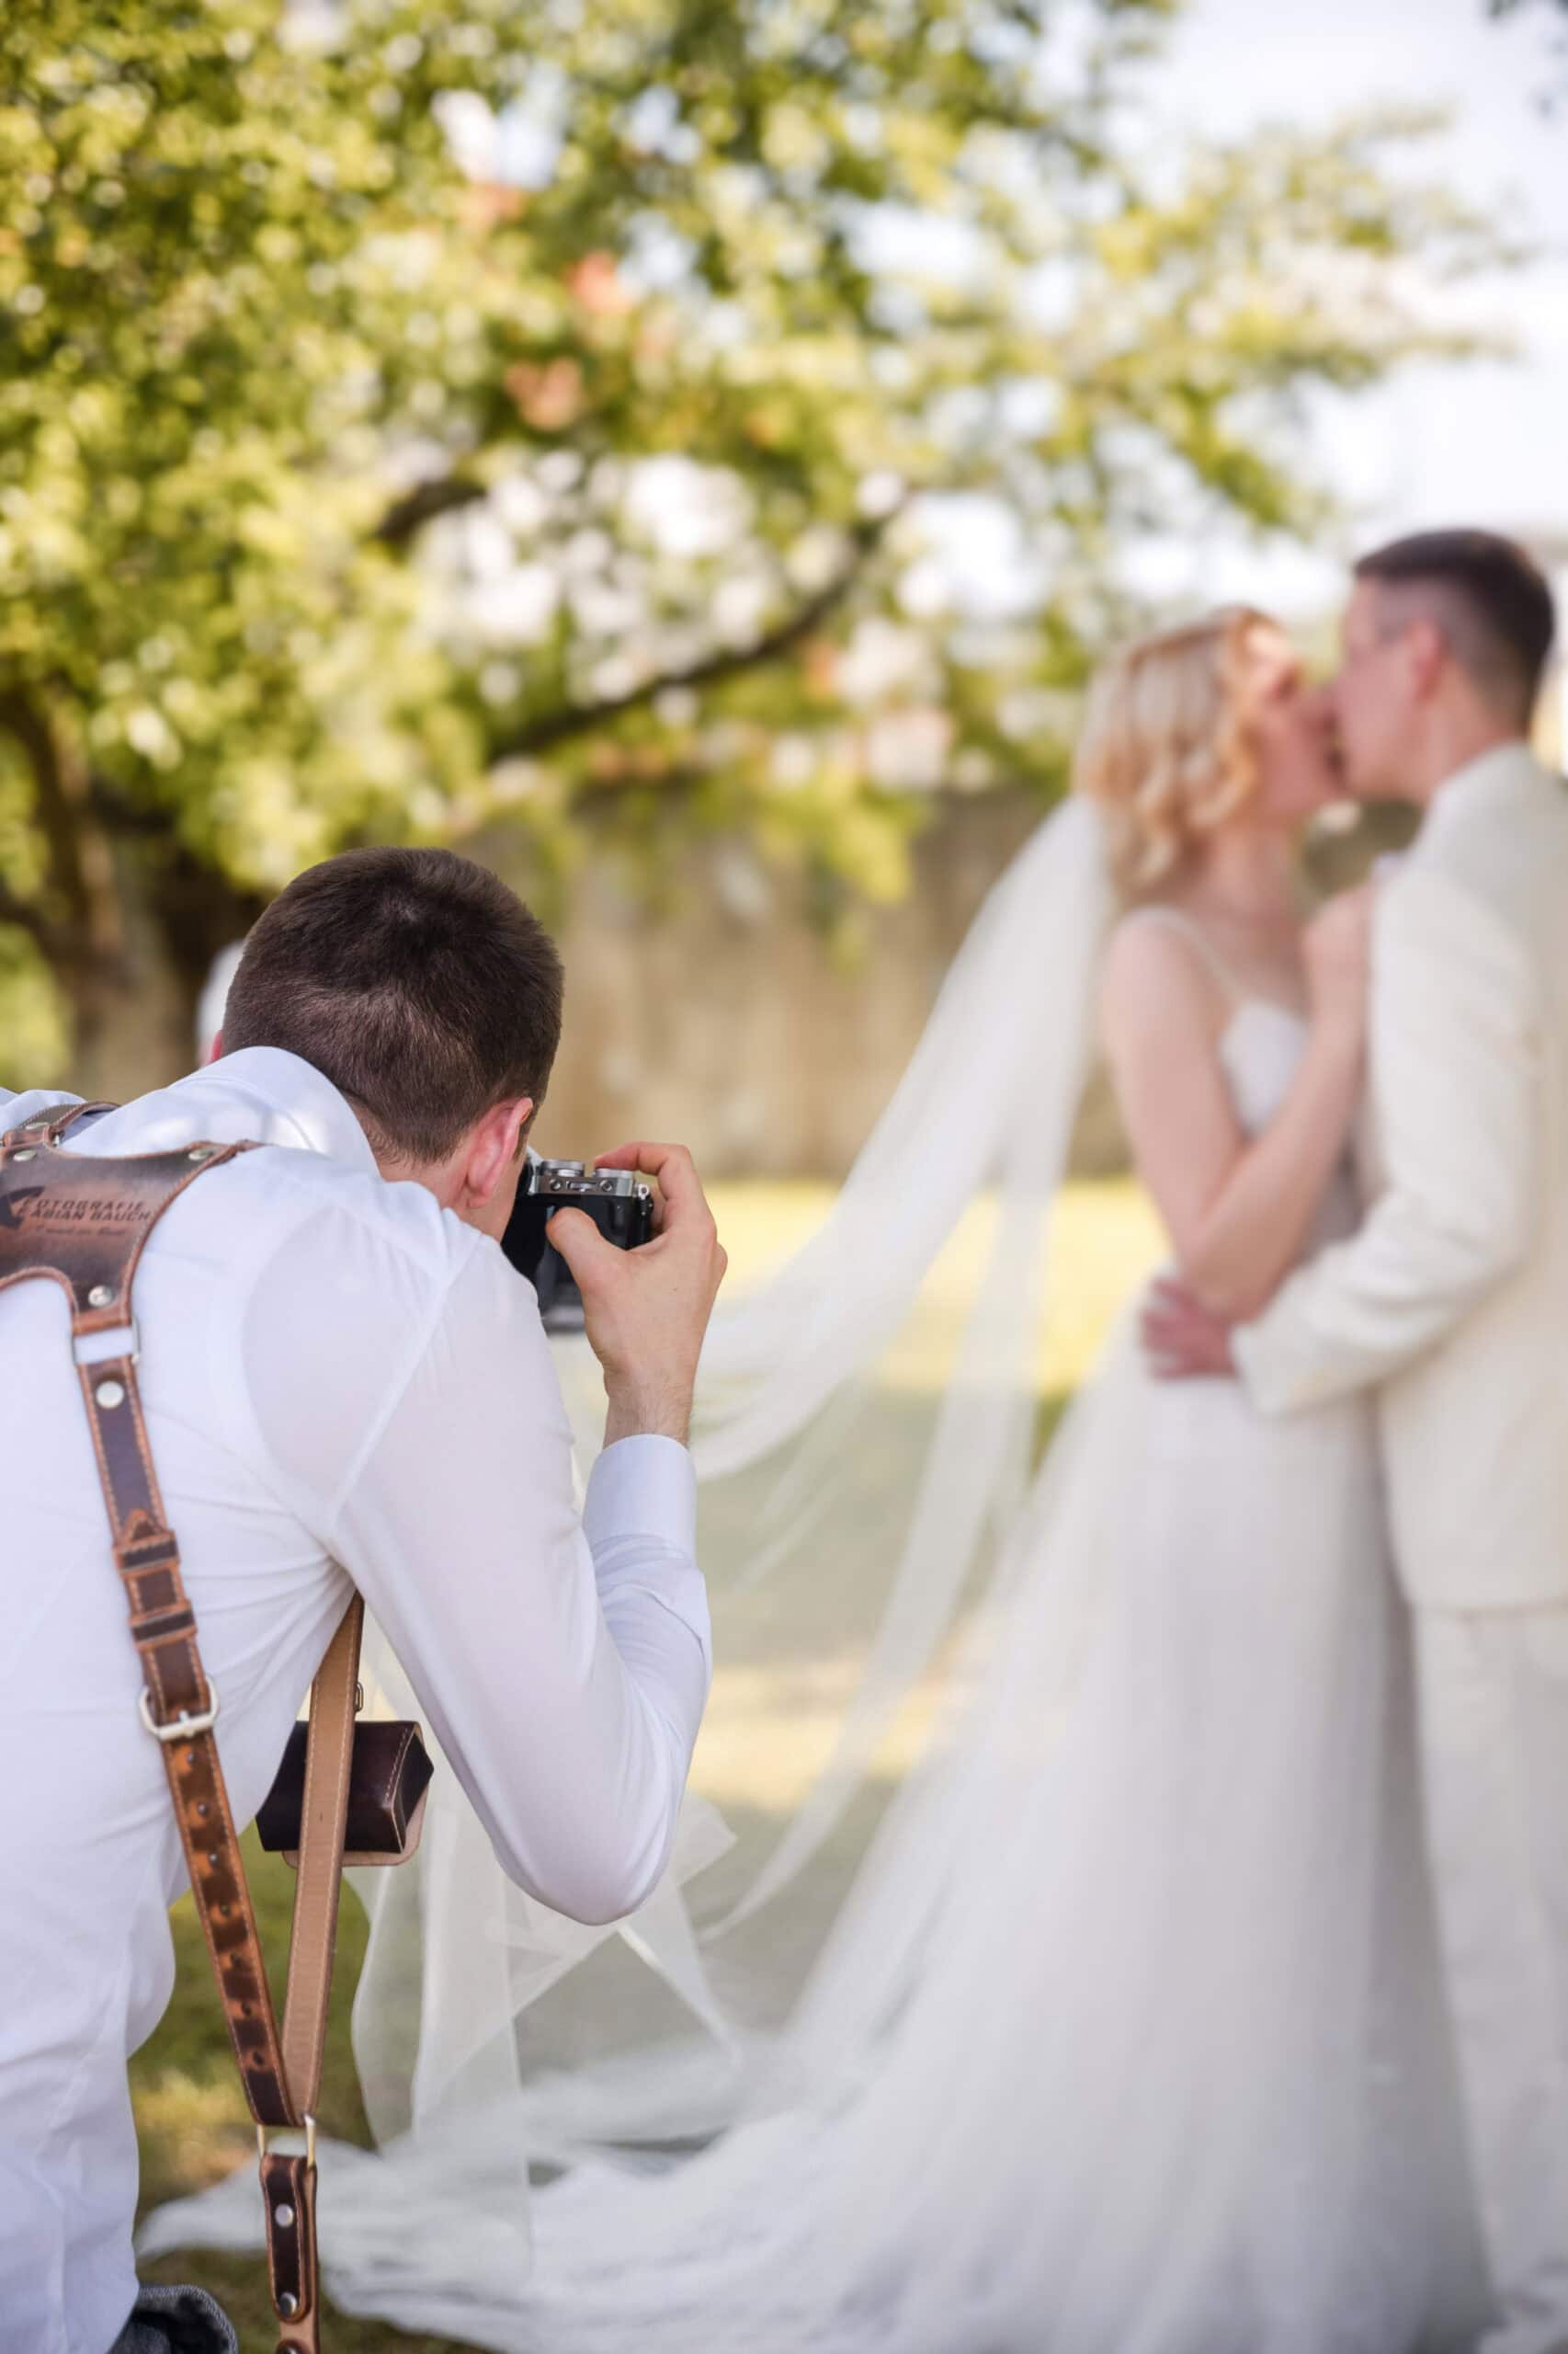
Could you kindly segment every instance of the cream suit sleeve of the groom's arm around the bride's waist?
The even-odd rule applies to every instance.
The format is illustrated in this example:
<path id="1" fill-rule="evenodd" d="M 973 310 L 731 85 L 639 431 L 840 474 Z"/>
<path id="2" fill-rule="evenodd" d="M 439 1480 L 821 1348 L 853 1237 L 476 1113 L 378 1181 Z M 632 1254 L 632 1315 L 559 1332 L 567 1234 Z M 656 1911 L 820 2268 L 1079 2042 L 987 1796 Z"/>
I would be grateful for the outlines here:
<path id="1" fill-rule="evenodd" d="M 1351 1241 L 1234 1335 L 1264 1412 L 1387 1382 L 1530 1245 L 1542 1170 L 1533 972 L 1502 918 L 1439 869 L 1408 869 L 1380 909 L 1370 1057 L 1387 1186 Z"/>

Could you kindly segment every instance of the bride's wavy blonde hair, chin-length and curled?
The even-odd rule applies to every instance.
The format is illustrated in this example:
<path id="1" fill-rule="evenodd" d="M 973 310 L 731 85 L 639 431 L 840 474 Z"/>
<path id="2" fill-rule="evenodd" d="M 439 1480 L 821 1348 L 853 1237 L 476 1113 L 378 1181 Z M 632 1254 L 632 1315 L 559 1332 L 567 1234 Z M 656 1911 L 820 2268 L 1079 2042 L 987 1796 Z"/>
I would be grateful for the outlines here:
<path id="1" fill-rule="evenodd" d="M 1074 791 L 1102 810 L 1111 871 L 1125 899 L 1147 899 L 1203 836 L 1257 791 L 1241 694 L 1248 638 L 1278 633 L 1253 605 L 1227 605 L 1135 638 L 1090 683 Z"/>

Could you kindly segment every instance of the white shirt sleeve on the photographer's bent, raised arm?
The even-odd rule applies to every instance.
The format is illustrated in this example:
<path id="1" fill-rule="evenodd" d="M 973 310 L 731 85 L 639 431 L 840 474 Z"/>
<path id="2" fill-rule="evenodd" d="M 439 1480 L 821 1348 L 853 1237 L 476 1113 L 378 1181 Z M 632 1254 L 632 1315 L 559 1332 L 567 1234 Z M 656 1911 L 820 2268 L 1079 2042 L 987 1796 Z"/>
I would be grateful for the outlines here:
<path id="1" fill-rule="evenodd" d="M 669 1860 L 709 1690 L 687 1450 L 624 1438 L 579 1518 L 534 1292 L 478 1248 L 327 1537 L 506 1874 L 577 1921 L 633 1911 Z"/>

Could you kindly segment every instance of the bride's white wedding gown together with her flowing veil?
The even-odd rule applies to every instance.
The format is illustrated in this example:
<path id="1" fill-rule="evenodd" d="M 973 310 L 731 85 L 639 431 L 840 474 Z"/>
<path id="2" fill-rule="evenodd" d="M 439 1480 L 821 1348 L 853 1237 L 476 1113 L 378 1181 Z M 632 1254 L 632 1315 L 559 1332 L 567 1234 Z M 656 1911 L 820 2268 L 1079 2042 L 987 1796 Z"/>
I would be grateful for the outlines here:
<path id="1" fill-rule="evenodd" d="M 810 1495 L 845 1445 L 876 1445 L 845 1436 L 850 1377 L 873 1377 L 954 1222 L 994 1186 L 935 1436 L 913 1478 L 897 1452 L 869 1467 L 911 1504 L 899 1525 L 890 1495 L 878 1528 L 902 1565 L 848 1763 L 753 1883 L 746 1935 L 782 1919 L 770 1907 L 996 1528 L 1001 1561 L 961 1704 L 888 1810 L 739 2123 L 664 2170 L 577 2163 L 530 2201 L 530 2159 L 636 2130 L 619 2086 L 582 2130 L 572 2072 L 551 2121 L 518 2069 L 532 1994 L 600 1933 L 551 1935 L 450 1787 L 421 1864 L 374 1876 L 393 1888 L 377 1893 L 381 1966 L 360 1984 L 356 2048 L 379 2081 L 417 2027 L 414 2130 L 381 2154 L 323 2152 L 323 2272 L 348 2312 L 497 2354 L 1474 2340 L 1481 2272 L 1370 1408 L 1264 1422 L 1231 1382 L 1151 1382 L 1128 1325 L 1012 1502 L 1038 1238 L 1107 911 L 1097 824 L 1069 805 L 991 892 L 822 1236 L 709 1335 L 699 1471 L 772 1464 L 798 1431 L 784 1459 Z M 1236 1003 L 1222 1052 L 1248 1130 L 1278 1109 L 1302 1045 L 1290 1012 Z M 1314 1245 L 1354 1217 L 1344 1172 Z M 789 1516 L 800 1488 L 779 1492 Z M 829 1530 L 843 1537 L 831 1511 Z M 742 1561 L 760 1535 L 730 1530 Z M 735 2048 L 683 1871 L 626 1935 L 716 2029 L 711 2050 Z M 690 2130 L 673 2123 L 697 2114 L 680 2069 L 640 2060 L 645 2130 Z M 257 2236 L 245 2170 L 160 2210 L 144 2246 Z"/>

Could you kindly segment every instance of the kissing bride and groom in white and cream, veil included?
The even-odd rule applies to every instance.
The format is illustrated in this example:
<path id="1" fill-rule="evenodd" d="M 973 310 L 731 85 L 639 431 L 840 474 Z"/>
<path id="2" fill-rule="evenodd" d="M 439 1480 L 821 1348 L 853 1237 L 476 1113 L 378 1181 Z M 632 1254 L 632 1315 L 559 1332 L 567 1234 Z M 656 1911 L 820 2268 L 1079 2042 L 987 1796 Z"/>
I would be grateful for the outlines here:
<path id="1" fill-rule="evenodd" d="M 1455 530 L 1356 567 L 1328 687 L 1255 610 L 1104 666 L 1076 793 L 991 892 L 838 1208 L 711 1328 L 709 1492 L 784 1464 L 727 1542 L 793 1511 L 819 1544 L 848 1518 L 829 1471 L 876 1450 L 845 1401 L 996 1210 L 897 1467 L 864 1688 L 704 1951 L 784 1919 L 984 1563 L 961 1704 L 697 2154 L 647 2053 L 643 2133 L 600 2140 L 662 2135 L 657 2161 L 542 2149 L 513 2086 L 544 1968 L 431 2067 L 440 1987 L 473 2006 L 464 1963 L 506 1942 L 499 1871 L 452 1831 L 414 2130 L 323 2194 L 341 2305 L 513 2354 L 1568 2349 L 1568 796 L 1528 749 L 1552 626 L 1528 558 Z M 1420 836 L 1307 916 L 1297 843 L 1344 791 L 1413 803 Z M 1095 1045 L 1172 1269 L 1029 1474 Z M 709 2024 L 744 2013 L 673 1878 L 629 1930 Z M 377 1923 L 365 2043 L 407 2013 L 388 1951 Z M 532 2246 L 530 2154 L 577 2159 Z"/>

